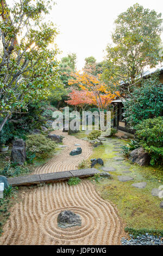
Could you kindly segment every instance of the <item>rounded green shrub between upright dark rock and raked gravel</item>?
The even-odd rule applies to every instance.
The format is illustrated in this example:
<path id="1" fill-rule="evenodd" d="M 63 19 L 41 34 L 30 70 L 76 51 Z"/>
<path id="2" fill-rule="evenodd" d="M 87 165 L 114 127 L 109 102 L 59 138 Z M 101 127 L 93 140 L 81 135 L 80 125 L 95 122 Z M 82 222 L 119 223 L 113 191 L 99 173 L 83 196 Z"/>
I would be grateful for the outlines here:
<path id="1" fill-rule="evenodd" d="M 27 150 L 35 153 L 36 157 L 40 159 L 50 157 L 56 148 L 55 142 L 41 134 L 28 135 L 26 144 Z"/>

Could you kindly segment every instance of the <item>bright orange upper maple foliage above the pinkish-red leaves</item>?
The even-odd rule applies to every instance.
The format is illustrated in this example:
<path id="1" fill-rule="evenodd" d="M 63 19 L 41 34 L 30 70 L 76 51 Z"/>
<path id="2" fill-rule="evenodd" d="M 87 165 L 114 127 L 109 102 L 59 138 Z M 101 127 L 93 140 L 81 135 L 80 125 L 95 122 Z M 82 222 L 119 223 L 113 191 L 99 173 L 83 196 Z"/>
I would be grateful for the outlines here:
<path id="1" fill-rule="evenodd" d="M 106 106 L 119 95 L 119 92 L 112 94 L 108 91 L 106 84 L 101 81 L 100 74 L 94 76 L 86 70 L 83 70 L 82 74 L 76 72 L 72 76 L 74 78 L 68 80 L 68 84 L 70 86 L 78 84 L 78 86 L 86 92 L 87 97 L 90 97 L 91 103 L 98 106 L 99 111 L 100 109 L 106 108 Z"/>

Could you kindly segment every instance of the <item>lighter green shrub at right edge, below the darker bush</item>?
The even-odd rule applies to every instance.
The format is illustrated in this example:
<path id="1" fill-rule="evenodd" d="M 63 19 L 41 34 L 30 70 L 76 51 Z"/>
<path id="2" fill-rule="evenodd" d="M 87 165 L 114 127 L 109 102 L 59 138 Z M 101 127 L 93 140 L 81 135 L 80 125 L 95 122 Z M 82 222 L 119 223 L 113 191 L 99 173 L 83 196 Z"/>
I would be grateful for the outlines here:
<path id="1" fill-rule="evenodd" d="M 143 120 L 136 126 L 140 145 L 151 155 L 151 165 L 161 162 L 163 157 L 163 117 Z"/>

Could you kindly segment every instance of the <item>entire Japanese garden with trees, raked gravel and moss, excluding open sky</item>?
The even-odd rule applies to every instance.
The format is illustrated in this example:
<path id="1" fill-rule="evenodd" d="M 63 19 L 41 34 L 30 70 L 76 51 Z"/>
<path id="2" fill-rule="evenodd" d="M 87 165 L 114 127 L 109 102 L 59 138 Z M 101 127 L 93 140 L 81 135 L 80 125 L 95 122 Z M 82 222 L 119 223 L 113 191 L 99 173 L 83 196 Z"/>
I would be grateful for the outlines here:
<path id="1" fill-rule="evenodd" d="M 79 69 L 56 2 L 0 3 L 0 245 L 163 245 L 162 15 L 117 12 Z"/>

